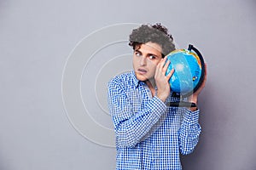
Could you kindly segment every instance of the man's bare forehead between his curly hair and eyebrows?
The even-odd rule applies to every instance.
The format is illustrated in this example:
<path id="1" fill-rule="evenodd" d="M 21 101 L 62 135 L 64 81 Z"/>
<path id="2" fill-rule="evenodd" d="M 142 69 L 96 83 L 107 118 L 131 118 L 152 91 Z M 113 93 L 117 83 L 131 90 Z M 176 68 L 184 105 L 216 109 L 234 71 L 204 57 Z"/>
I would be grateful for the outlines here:
<path id="1" fill-rule="evenodd" d="M 158 43 L 154 43 L 154 42 L 147 42 L 147 43 L 143 43 L 141 45 L 137 45 L 137 47 L 135 47 L 135 50 L 139 50 L 145 54 L 156 54 L 156 55 L 162 54 L 161 53 L 162 48 L 160 47 L 160 45 Z"/>

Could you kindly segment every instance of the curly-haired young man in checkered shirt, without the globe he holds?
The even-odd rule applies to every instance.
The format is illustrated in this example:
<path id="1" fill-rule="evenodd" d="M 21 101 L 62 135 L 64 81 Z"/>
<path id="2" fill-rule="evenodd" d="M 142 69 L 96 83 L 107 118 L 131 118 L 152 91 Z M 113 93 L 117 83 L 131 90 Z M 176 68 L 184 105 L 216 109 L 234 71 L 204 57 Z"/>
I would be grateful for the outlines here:
<path id="1" fill-rule="evenodd" d="M 201 133 L 197 108 L 170 107 L 172 97 L 166 75 L 175 49 L 166 27 L 143 25 L 130 35 L 133 71 L 108 83 L 108 103 L 116 134 L 116 169 L 182 169 L 180 153 L 195 149 Z M 189 102 L 197 103 L 202 83 Z"/>

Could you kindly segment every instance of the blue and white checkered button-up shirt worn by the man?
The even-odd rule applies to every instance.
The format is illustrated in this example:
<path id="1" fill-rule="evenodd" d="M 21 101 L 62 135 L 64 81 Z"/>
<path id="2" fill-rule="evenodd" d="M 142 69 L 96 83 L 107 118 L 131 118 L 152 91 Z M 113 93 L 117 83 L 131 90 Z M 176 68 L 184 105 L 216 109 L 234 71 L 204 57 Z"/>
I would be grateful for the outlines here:
<path id="1" fill-rule="evenodd" d="M 178 101 L 169 97 L 166 102 Z M 195 149 L 199 111 L 166 106 L 134 71 L 108 83 L 108 105 L 116 134 L 116 169 L 182 169 L 180 153 Z"/>

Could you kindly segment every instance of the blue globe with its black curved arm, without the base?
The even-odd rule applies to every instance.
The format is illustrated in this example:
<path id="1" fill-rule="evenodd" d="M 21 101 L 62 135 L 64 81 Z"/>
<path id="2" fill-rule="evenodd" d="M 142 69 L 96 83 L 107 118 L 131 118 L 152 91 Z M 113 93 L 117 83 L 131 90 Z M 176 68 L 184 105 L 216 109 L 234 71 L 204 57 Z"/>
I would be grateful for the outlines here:
<path id="1" fill-rule="evenodd" d="M 192 51 L 195 50 L 195 52 Z M 171 61 L 166 75 L 174 68 L 174 73 L 169 80 L 172 94 L 190 95 L 200 86 L 204 78 L 204 60 L 200 52 L 189 45 L 189 49 L 177 49 L 167 55 Z"/>

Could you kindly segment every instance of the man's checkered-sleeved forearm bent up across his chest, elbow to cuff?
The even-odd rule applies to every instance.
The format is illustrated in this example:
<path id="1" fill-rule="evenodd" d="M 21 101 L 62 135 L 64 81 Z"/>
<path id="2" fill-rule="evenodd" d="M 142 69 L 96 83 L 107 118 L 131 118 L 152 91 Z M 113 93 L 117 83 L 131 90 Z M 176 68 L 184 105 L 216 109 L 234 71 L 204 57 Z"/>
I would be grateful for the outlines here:
<path id="1" fill-rule="evenodd" d="M 154 97 L 142 111 L 134 113 L 125 120 L 120 120 L 119 113 L 113 114 L 117 145 L 131 147 L 139 143 L 165 111 L 166 105 Z"/>

